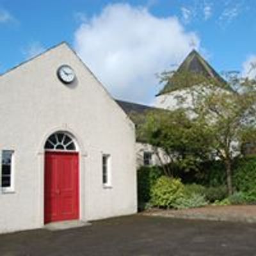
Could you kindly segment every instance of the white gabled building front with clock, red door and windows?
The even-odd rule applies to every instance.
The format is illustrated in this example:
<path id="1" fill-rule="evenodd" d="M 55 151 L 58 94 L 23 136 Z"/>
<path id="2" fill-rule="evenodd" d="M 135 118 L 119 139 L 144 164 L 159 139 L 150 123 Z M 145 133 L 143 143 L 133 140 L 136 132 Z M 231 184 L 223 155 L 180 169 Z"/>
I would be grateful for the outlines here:
<path id="1" fill-rule="evenodd" d="M 0 76 L 0 232 L 137 211 L 134 124 L 62 43 Z"/>

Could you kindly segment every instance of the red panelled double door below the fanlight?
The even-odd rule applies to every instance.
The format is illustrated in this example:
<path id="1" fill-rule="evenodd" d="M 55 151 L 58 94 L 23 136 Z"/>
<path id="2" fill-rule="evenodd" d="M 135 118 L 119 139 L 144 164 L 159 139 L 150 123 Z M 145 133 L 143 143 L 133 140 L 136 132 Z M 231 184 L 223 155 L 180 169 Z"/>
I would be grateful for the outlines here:
<path id="1" fill-rule="evenodd" d="M 79 218 L 78 154 L 45 152 L 45 223 Z"/>

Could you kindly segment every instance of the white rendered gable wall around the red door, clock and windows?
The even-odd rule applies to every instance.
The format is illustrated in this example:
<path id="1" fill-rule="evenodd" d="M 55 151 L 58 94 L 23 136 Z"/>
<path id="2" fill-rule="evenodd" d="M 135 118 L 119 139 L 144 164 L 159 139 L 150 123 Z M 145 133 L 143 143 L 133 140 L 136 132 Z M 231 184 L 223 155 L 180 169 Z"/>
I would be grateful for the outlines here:
<path id="1" fill-rule="evenodd" d="M 70 65 L 76 83 L 56 76 Z M 44 143 L 72 133 L 80 148 L 80 219 L 137 210 L 134 125 L 66 44 L 0 76 L 0 150 L 15 151 L 15 191 L 0 194 L 0 232 L 44 226 Z M 102 186 L 102 154 L 111 154 L 111 188 Z"/>

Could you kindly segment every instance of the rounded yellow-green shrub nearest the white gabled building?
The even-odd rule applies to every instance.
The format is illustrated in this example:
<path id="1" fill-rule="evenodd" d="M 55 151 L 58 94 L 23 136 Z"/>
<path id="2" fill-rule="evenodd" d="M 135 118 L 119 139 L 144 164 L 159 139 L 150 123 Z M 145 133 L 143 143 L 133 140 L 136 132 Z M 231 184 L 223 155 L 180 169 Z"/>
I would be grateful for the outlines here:
<path id="1" fill-rule="evenodd" d="M 180 179 L 173 179 L 162 176 L 157 179 L 151 193 L 152 205 L 157 207 L 170 208 L 178 198 L 184 195 L 184 185 Z"/>

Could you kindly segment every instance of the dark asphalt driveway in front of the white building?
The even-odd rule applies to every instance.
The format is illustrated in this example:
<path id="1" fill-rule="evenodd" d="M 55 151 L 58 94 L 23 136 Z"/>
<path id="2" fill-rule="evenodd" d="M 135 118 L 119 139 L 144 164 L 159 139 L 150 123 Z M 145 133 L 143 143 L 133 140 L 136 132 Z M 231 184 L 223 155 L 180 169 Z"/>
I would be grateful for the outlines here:
<path id="1" fill-rule="evenodd" d="M 256 255 L 256 225 L 154 216 L 0 236 L 0 255 Z"/>

